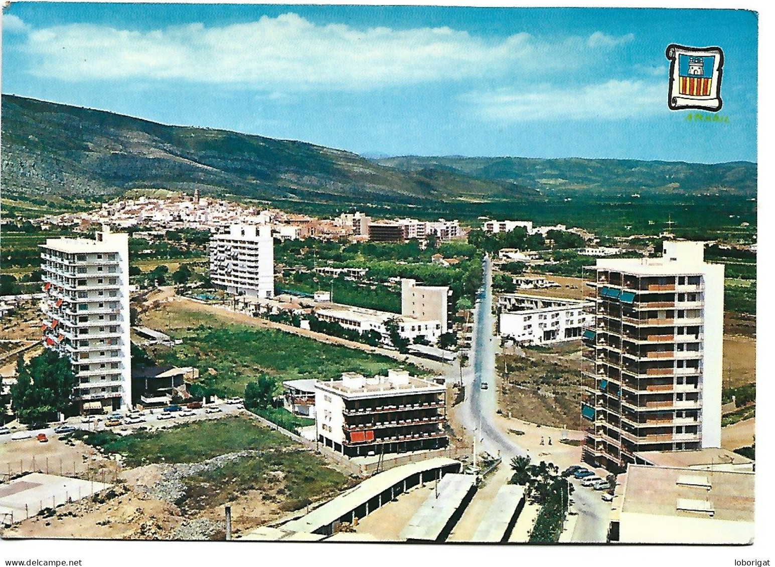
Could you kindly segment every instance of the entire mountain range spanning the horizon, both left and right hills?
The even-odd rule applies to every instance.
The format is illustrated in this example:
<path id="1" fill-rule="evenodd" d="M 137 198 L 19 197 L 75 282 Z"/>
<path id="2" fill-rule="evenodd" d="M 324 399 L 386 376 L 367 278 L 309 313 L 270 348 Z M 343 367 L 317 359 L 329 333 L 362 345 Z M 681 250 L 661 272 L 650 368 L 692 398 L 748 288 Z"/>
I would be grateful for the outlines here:
<path id="1" fill-rule="evenodd" d="M 530 201 L 568 191 L 756 194 L 756 164 L 402 156 L 157 122 L 2 95 L 4 198 L 165 189 L 272 201 Z"/>

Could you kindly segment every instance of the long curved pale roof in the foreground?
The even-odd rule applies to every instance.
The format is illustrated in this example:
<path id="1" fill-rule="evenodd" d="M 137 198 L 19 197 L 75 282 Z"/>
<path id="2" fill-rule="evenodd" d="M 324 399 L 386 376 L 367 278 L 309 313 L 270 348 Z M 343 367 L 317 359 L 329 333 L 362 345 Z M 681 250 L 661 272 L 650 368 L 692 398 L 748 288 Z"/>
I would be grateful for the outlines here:
<path id="1" fill-rule="evenodd" d="M 387 469 L 384 473 L 379 473 L 364 480 L 355 488 L 340 494 L 333 500 L 329 500 L 321 507 L 315 508 L 306 516 L 300 517 L 298 520 L 289 521 L 282 526 L 282 529 L 311 534 L 313 531 L 317 531 L 339 520 L 340 517 L 349 514 L 363 503 L 368 502 L 378 494 L 388 490 L 391 486 L 402 482 L 404 479 L 408 479 L 412 475 L 450 465 L 460 465 L 460 461 L 449 459 L 448 457 L 434 457 L 433 459 L 410 462 L 408 465 Z"/>

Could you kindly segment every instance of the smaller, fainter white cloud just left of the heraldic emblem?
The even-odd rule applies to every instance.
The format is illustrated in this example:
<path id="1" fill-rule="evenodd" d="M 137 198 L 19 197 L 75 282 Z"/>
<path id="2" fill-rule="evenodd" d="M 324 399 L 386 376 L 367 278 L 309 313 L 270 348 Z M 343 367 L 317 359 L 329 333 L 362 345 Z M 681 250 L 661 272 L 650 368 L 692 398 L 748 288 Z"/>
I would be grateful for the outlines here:
<path id="1" fill-rule="evenodd" d="M 495 122 L 616 120 L 663 111 L 667 108 L 667 86 L 664 81 L 608 81 L 578 88 L 543 85 L 529 91 L 470 93 L 464 100 L 477 115 Z"/>

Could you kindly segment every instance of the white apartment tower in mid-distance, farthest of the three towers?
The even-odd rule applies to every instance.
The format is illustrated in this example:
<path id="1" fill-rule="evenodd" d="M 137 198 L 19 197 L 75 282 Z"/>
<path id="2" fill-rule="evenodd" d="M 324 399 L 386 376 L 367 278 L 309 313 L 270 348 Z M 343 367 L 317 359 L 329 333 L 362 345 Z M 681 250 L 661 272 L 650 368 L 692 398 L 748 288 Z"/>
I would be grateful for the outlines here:
<path id="1" fill-rule="evenodd" d="M 274 240 L 270 226 L 231 225 L 210 237 L 210 280 L 229 294 L 274 297 Z"/>

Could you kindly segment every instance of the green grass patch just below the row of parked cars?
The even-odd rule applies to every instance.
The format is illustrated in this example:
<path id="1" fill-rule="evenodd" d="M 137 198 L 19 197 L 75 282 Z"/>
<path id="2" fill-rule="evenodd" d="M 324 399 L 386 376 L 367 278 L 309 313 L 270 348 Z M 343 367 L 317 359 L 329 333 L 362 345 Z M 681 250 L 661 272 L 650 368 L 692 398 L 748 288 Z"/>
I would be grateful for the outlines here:
<path id="1" fill-rule="evenodd" d="M 153 462 L 200 462 L 229 452 L 263 451 L 293 444 L 277 431 L 243 417 L 193 421 L 164 431 L 138 431 L 125 437 L 112 431 L 76 434 L 88 445 L 123 455 L 129 467 Z"/>

